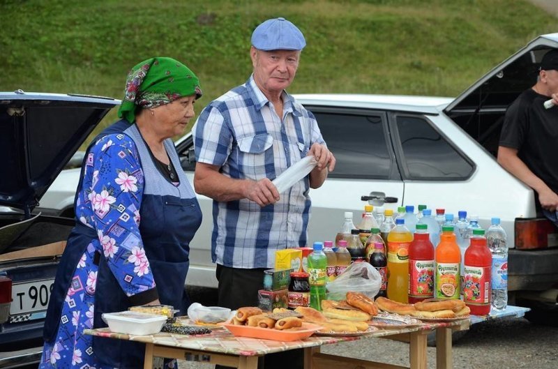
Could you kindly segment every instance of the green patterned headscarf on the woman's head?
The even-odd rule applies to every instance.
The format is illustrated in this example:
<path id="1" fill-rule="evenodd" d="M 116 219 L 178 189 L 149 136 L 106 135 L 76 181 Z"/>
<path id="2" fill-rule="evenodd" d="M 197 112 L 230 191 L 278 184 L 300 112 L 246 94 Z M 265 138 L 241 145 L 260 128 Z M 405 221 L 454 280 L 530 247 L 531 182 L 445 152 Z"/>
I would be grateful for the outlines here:
<path id="1" fill-rule="evenodd" d="M 199 80 L 183 63 L 164 57 L 147 59 L 128 73 L 118 116 L 133 123 L 137 106 L 157 107 L 194 94 L 196 99 L 202 96 Z"/>

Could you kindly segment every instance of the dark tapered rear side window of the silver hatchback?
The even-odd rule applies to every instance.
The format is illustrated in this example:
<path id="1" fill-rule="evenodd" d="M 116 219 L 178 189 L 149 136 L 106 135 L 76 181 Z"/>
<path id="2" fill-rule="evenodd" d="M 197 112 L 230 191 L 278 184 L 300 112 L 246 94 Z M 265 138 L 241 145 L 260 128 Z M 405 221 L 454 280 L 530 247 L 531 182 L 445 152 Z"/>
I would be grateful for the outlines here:
<path id="1" fill-rule="evenodd" d="M 407 179 L 451 181 L 466 179 L 472 174 L 472 161 L 426 119 L 399 115 L 396 121 L 402 173 Z"/>

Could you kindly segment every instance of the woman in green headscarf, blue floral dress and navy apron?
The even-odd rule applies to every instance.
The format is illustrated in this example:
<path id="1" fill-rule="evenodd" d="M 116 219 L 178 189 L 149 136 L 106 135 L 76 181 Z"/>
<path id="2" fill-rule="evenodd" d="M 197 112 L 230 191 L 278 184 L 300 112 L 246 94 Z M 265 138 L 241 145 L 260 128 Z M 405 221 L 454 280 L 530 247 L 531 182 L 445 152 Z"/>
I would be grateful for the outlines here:
<path id="1" fill-rule="evenodd" d="M 130 71 L 121 120 L 87 149 L 40 368 L 141 368 L 143 344 L 84 329 L 130 306 L 185 312 L 188 244 L 202 213 L 170 137 L 183 133 L 200 96 L 197 77 L 174 59 L 148 59 Z"/>

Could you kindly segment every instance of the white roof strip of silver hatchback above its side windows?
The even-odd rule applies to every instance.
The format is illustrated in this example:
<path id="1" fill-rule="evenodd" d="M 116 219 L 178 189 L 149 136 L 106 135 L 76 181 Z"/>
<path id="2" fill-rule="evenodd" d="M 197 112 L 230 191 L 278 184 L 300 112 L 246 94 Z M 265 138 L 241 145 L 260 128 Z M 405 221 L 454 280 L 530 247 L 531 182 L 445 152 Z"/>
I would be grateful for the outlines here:
<path id="1" fill-rule="evenodd" d="M 453 98 L 435 96 L 372 95 L 350 93 L 300 93 L 299 103 L 311 106 L 335 106 L 360 109 L 393 110 L 439 114 Z"/>

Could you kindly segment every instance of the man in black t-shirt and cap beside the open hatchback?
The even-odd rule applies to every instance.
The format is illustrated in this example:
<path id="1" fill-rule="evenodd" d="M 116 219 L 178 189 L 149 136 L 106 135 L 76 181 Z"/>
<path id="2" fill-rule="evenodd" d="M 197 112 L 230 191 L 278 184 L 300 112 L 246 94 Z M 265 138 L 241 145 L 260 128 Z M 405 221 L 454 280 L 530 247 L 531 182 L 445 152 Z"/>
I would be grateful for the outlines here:
<path id="1" fill-rule="evenodd" d="M 548 108 L 547 100 L 553 103 Z M 558 49 L 552 49 L 541 61 L 536 84 L 508 107 L 498 163 L 536 191 L 537 209 L 542 208 L 555 225 L 558 225 L 557 148 Z"/>

